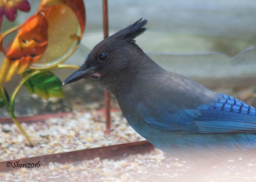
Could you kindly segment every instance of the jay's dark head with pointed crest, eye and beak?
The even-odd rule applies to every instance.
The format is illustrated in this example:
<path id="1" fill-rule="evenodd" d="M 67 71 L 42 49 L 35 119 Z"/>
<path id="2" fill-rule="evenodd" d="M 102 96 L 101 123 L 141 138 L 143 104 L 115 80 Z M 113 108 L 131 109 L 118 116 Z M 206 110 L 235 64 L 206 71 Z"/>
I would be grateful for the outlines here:
<path id="1" fill-rule="evenodd" d="M 146 23 L 147 20 L 140 19 L 102 40 L 87 55 L 85 63 L 63 85 L 86 78 L 104 88 L 104 83 L 117 78 L 120 71 L 125 70 L 139 52 L 143 52 L 135 44 L 134 38 L 146 30 Z"/>

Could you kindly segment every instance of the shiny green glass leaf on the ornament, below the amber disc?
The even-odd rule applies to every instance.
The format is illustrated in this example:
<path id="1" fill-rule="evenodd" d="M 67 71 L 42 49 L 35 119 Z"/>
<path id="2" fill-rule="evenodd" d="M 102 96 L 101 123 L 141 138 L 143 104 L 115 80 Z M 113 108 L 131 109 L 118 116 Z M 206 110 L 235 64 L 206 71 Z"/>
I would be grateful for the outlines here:
<path id="1" fill-rule="evenodd" d="M 23 74 L 27 76 L 28 72 Z M 62 82 L 51 71 L 43 71 L 29 78 L 24 85 L 30 94 L 36 94 L 48 100 L 50 97 L 64 98 Z"/>

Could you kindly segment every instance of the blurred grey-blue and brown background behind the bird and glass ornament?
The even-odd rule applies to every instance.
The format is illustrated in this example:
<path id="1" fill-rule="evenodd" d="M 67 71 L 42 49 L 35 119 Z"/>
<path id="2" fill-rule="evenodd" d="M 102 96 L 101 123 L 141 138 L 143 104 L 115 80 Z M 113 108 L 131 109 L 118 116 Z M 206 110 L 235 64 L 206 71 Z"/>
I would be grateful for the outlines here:
<path id="1" fill-rule="evenodd" d="M 18 11 L 15 22 L 5 18 L 1 31 L 23 23 L 40 0 L 29 0 L 30 13 Z M 103 39 L 101 0 L 84 0 L 86 26 L 78 50 L 65 63 L 80 66 L 88 52 Z M 108 0 L 110 35 L 140 18 L 148 30 L 137 44 L 161 66 L 203 85 L 256 106 L 256 1 L 255 0 Z M 11 38 L 11 37 L 10 37 Z M 0 64 L 3 62 L 0 55 Z M 139 60 L 138 60 L 139 61 Z M 74 72 L 55 71 L 61 81 Z M 5 83 L 11 93 L 20 76 Z M 44 101 L 21 89 L 16 116 L 59 111 L 86 111 L 104 106 L 104 94 L 85 81 L 64 86 L 65 99 Z M 112 96 L 112 106 L 118 105 Z M 7 117 L 5 108 L 0 117 Z"/>

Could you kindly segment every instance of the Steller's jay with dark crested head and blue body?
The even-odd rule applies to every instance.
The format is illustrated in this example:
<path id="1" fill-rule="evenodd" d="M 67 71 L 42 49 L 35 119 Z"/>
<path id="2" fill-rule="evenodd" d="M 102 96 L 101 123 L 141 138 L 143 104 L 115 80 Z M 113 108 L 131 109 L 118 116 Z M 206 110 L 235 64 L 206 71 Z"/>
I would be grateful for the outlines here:
<path id="1" fill-rule="evenodd" d="M 86 78 L 110 91 L 130 126 L 164 152 L 218 156 L 256 149 L 255 108 L 152 61 L 134 40 L 146 23 L 140 19 L 102 40 L 64 84 Z"/>

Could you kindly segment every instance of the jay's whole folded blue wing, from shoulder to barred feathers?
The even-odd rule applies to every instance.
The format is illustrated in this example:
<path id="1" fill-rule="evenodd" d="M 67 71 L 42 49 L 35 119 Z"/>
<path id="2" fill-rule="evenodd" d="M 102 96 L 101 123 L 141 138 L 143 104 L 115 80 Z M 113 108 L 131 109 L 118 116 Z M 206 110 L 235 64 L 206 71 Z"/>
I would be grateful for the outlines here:
<path id="1" fill-rule="evenodd" d="M 184 133 L 256 132 L 256 110 L 231 96 L 220 94 L 210 105 L 169 113 L 163 109 L 159 117 L 143 108 L 144 121 L 169 131 Z"/>

